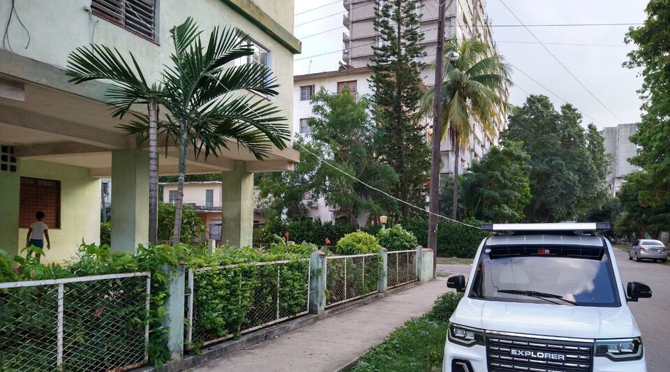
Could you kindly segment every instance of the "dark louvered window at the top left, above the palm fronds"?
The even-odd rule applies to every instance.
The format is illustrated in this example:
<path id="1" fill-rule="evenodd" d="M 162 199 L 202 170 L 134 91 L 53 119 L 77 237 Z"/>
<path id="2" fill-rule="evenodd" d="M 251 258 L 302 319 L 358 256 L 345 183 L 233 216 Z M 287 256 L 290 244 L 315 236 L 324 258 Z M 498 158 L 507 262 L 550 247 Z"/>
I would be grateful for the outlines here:
<path id="1" fill-rule="evenodd" d="M 156 40 L 158 0 L 91 0 L 93 14 L 143 36 Z"/>

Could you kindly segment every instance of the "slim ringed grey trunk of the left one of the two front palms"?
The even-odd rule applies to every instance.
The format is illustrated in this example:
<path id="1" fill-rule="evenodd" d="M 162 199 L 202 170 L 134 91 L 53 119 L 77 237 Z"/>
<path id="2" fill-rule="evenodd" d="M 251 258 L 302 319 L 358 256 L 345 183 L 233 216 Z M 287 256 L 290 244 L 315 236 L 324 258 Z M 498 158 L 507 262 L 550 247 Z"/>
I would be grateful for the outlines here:
<path id="1" fill-rule="evenodd" d="M 158 101 L 149 101 L 149 244 L 158 243 Z"/>

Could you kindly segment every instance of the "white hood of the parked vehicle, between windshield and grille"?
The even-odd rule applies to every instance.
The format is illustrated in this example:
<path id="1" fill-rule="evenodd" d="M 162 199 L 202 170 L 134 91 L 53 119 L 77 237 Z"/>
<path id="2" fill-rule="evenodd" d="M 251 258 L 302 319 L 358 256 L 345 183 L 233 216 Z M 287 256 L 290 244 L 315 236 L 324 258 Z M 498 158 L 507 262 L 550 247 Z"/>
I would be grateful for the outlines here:
<path id="1" fill-rule="evenodd" d="M 498 332 L 573 338 L 640 336 L 627 305 L 588 307 L 484 301 L 463 297 L 449 321 Z"/>

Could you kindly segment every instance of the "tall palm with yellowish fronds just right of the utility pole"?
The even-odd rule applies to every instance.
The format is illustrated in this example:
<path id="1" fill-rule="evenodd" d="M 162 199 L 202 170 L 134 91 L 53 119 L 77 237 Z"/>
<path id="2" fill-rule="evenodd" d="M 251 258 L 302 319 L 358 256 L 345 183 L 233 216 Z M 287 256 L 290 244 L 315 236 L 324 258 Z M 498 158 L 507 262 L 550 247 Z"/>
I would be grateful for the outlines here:
<path id="1" fill-rule="evenodd" d="M 449 133 L 454 149 L 454 193 L 452 218 L 457 218 L 459 201 L 459 165 L 461 147 L 470 143 L 472 123 L 477 121 L 484 132 L 493 135 L 496 122 L 507 113 L 509 66 L 500 55 L 489 56 L 489 45 L 479 40 L 452 39 L 445 45 L 445 56 L 458 53 L 457 59 L 445 58 L 445 79 L 442 84 L 442 133 L 433 141 L 443 141 Z M 419 104 L 419 114 L 432 114 L 435 88 L 426 91 Z M 447 132 L 447 128 L 449 131 Z"/>

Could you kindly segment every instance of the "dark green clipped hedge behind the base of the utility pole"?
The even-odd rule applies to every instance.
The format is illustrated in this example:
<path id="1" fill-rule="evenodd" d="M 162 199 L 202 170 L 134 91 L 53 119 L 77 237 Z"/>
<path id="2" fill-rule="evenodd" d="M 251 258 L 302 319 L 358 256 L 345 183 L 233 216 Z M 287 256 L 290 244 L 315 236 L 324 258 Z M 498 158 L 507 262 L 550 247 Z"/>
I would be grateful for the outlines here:
<path id="1" fill-rule="evenodd" d="M 421 246 L 428 245 L 428 221 L 412 218 L 403 221 L 405 230 L 417 237 Z M 477 247 L 488 234 L 460 223 L 438 223 L 438 255 L 446 257 L 474 258 Z"/>

